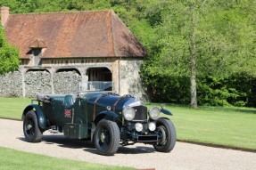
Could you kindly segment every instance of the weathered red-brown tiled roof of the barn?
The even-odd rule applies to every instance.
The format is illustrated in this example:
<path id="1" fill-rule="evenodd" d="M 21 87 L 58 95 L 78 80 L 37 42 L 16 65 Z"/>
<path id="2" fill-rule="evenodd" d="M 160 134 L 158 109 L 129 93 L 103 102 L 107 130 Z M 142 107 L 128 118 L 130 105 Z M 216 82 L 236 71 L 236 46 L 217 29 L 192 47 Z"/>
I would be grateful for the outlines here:
<path id="1" fill-rule="evenodd" d="M 111 10 L 11 14 L 4 29 L 22 59 L 37 47 L 46 47 L 42 58 L 145 56 L 144 47 Z"/>

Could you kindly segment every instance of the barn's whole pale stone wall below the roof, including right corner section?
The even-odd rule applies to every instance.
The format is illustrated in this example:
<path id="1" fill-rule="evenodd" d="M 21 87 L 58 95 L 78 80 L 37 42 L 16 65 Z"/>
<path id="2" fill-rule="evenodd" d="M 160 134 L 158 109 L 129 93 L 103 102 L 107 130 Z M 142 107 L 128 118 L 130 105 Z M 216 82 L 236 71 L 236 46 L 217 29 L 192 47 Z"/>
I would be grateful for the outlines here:
<path id="1" fill-rule="evenodd" d="M 142 62 L 136 59 L 122 59 L 112 64 L 110 69 L 112 81 L 120 95 L 131 94 L 142 100 L 147 99 L 139 76 Z M 50 67 L 29 70 L 21 68 L 21 72 L 16 71 L 0 76 L 0 97 L 35 98 L 37 93 L 78 93 L 79 82 L 87 82 L 87 69 L 90 68 L 83 67 L 77 70 L 68 68 L 55 72 L 58 69 Z"/>

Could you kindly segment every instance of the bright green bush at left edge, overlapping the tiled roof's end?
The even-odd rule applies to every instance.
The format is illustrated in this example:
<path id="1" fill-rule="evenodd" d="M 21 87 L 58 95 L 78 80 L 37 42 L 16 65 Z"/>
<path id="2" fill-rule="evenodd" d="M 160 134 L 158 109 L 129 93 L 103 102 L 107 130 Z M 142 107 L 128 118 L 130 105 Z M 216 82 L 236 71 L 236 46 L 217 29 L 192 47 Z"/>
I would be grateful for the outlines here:
<path id="1" fill-rule="evenodd" d="M 15 71 L 20 65 L 18 48 L 10 45 L 4 36 L 4 29 L 0 28 L 0 75 Z"/>

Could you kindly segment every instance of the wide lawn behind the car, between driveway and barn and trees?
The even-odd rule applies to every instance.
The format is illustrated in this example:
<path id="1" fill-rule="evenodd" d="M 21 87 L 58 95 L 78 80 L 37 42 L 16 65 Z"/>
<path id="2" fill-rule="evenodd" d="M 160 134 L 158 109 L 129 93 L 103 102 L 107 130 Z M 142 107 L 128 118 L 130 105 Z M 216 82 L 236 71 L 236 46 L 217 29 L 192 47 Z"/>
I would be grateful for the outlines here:
<path id="1" fill-rule="evenodd" d="M 29 99 L 0 98 L 0 117 L 20 119 Z M 148 103 L 148 107 L 160 104 Z M 166 105 L 173 113 L 169 117 L 176 129 L 178 140 L 204 142 L 235 148 L 256 150 L 256 109 L 200 107 L 189 109 L 182 105 Z"/>

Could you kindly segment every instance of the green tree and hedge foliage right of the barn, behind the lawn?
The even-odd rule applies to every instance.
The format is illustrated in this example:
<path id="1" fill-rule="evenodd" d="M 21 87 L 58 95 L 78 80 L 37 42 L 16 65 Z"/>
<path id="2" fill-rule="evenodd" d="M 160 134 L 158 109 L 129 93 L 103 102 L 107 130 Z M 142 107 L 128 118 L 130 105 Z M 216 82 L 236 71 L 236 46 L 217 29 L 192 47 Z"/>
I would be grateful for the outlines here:
<path id="1" fill-rule="evenodd" d="M 194 15 L 191 13 L 193 3 Z M 161 101 L 189 101 L 194 38 L 198 103 L 248 106 L 248 99 L 256 97 L 251 93 L 256 66 L 256 27 L 252 7 L 255 2 L 171 0 L 153 1 L 149 5 L 147 18 L 157 36 L 141 74 L 152 96 L 156 91 L 151 89 L 157 89 Z M 194 26 L 193 20 L 196 22 Z M 239 81 L 241 76 L 248 77 L 251 83 Z M 170 92 L 169 95 L 166 92 Z M 183 95 L 179 97 L 182 99 L 175 99 L 181 93 Z"/>

